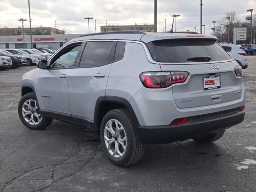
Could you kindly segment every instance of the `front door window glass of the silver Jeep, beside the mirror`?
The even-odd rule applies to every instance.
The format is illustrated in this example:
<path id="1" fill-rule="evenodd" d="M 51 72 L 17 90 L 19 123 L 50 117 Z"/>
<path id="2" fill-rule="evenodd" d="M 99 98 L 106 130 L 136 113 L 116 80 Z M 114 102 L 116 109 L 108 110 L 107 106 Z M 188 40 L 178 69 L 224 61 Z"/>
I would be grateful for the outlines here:
<path id="1" fill-rule="evenodd" d="M 73 44 L 65 48 L 60 54 L 53 60 L 50 68 L 71 68 L 74 66 L 76 55 L 81 48 L 80 44 Z"/>

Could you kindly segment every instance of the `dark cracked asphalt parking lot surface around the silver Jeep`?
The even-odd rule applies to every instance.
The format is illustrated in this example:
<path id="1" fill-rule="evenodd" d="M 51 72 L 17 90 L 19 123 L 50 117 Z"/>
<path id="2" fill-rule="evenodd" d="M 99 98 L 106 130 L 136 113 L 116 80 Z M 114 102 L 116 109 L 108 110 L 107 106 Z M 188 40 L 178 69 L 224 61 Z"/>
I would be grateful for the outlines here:
<path id="1" fill-rule="evenodd" d="M 256 191 L 256 56 L 248 63 L 244 122 L 211 144 L 148 144 L 125 168 L 107 160 L 88 130 L 57 120 L 26 128 L 17 112 L 20 80 L 36 66 L 0 71 L 0 191 Z"/>

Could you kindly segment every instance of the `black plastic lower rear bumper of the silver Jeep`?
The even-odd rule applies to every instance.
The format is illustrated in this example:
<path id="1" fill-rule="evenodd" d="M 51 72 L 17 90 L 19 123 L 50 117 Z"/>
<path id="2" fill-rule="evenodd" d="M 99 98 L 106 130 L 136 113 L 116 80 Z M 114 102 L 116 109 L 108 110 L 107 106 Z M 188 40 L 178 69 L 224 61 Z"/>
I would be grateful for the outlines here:
<path id="1" fill-rule="evenodd" d="M 227 110 L 228 111 L 228 110 Z M 214 114 L 214 113 L 212 113 Z M 217 113 L 215 113 L 217 114 Z M 201 118 L 203 117 L 203 118 Z M 244 111 L 236 109 L 220 112 L 216 116 L 206 114 L 189 117 L 182 125 L 172 126 L 139 126 L 140 138 L 147 143 L 170 143 L 187 140 L 196 135 L 207 135 L 228 129 L 244 120 Z"/>

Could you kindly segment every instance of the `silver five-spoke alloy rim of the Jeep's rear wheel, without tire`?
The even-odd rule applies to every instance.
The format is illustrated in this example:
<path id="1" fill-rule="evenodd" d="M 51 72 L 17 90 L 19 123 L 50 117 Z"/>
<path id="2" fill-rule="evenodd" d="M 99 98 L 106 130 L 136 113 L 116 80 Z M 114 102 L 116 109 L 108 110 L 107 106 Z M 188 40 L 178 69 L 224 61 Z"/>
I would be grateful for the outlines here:
<path id="1" fill-rule="evenodd" d="M 122 124 L 111 119 L 104 128 L 104 141 L 108 152 L 115 158 L 124 156 L 127 148 L 126 132 Z"/>

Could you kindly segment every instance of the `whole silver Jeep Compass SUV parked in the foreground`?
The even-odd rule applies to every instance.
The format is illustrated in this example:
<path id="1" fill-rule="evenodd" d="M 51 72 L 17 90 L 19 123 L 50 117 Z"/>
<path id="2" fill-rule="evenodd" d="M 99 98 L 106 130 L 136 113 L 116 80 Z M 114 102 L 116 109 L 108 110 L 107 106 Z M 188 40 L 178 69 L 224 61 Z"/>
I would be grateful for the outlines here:
<path id="1" fill-rule="evenodd" d="M 144 142 L 213 142 L 244 120 L 242 68 L 215 36 L 105 32 L 75 38 L 22 77 L 18 113 L 100 134 L 108 159 L 138 162 Z"/>

